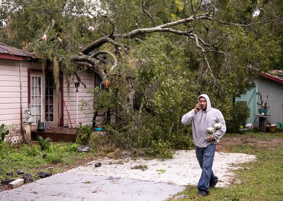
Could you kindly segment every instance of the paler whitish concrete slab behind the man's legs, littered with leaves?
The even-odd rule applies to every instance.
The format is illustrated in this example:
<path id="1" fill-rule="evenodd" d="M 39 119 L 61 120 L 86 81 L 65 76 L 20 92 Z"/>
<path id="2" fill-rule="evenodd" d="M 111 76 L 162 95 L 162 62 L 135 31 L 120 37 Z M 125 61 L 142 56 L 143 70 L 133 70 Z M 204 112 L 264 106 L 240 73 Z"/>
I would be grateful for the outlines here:
<path id="1" fill-rule="evenodd" d="M 230 184 L 231 170 L 238 169 L 232 164 L 238 164 L 255 160 L 256 156 L 241 153 L 215 152 L 213 162 L 213 172 L 219 178 L 217 186 L 225 187 Z M 119 176 L 128 179 L 143 181 L 165 182 L 185 186 L 187 184 L 197 185 L 201 175 L 201 169 L 194 150 L 179 150 L 173 159 L 167 160 L 137 160 L 121 159 L 113 160 L 103 158 L 99 160 L 101 167 L 95 167 L 95 161 L 86 165 L 69 170 L 69 173 L 99 175 L 99 176 Z M 147 170 L 133 170 L 136 165 L 147 165 Z"/>

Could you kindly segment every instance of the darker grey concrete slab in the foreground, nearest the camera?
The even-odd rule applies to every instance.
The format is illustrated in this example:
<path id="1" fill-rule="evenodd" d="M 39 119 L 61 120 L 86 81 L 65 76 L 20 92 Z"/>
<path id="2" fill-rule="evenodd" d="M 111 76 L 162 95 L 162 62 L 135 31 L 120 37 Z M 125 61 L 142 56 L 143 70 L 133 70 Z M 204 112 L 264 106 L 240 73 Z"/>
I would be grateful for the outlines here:
<path id="1" fill-rule="evenodd" d="M 165 200 L 184 189 L 185 187 L 163 182 L 125 178 L 107 180 L 103 176 L 63 172 L 0 192 L 0 200 Z"/>

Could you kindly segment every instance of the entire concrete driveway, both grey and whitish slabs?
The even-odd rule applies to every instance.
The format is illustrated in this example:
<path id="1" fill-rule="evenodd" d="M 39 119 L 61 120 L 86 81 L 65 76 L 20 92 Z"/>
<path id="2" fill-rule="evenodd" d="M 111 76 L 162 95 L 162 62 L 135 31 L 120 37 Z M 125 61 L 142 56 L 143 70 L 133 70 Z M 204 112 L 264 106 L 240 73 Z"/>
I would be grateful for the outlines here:
<path id="1" fill-rule="evenodd" d="M 255 160 L 256 156 L 240 153 L 216 152 L 213 171 L 221 182 L 218 187 L 229 185 L 233 177 L 231 164 Z M 194 150 L 177 151 L 168 160 L 113 160 L 103 158 L 101 167 L 95 161 L 68 172 L 37 180 L 9 191 L 0 192 L 0 200 L 166 200 L 196 185 L 201 169 Z M 131 169 L 147 165 L 148 169 Z"/>

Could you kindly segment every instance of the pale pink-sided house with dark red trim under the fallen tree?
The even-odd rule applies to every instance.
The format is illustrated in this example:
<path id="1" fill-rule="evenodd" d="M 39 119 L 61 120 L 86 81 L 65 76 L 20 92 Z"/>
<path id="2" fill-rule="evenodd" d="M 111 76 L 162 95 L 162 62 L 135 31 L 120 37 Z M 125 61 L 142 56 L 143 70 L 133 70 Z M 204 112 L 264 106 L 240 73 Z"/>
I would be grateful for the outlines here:
<path id="1" fill-rule="evenodd" d="M 84 64 L 79 64 L 80 66 Z M 99 86 L 101 78 L 96 69 L 88 66 L 88 72 L 78 72 L 80 79 L 89 88 Z M 75 76 L 71 77 L 69 93 L 67 77 L 60 72 L 60 90 L 55 90 L 52 67 L 42 70 L 40 59 L 30 52 L 16 49 L 0 43 L 0 124 L 18 124 L 23 129 L 24 110 L 31 109 L 32 129 L 38 122 L 48 126 L 69 126 L 70 122 L 64 101 L 70 114 L 73 127 L 76 125 L 76 89 Z M 80 85 L 78 102 L 90 100 L 90 94 Z M 78 122 L 92 124 L 93 114 L 78 109 Z M 99 118 L 99 117 L 98 117 Z"/>

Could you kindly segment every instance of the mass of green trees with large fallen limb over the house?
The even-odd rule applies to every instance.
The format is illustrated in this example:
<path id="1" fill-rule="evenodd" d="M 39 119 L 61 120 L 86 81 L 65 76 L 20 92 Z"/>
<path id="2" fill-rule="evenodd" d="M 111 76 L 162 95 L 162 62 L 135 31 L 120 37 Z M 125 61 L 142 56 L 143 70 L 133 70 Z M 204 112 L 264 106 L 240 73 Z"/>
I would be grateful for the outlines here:
<path id="1" fill-rule="evenodd" d="M 247 66 L 282 69 L 282 13 L 279 0 L 1 0 L 0 41 L 26 41 L 69 75 L 74 61 L 93 64 L 110 88 L 89 89 L 104 100 L 92 109 L 115 111 L 116 142 L 182 148 L 190 145 L 180 117 L 198 95 L 231 120 L 231 97 L 257 72 Z"/>

